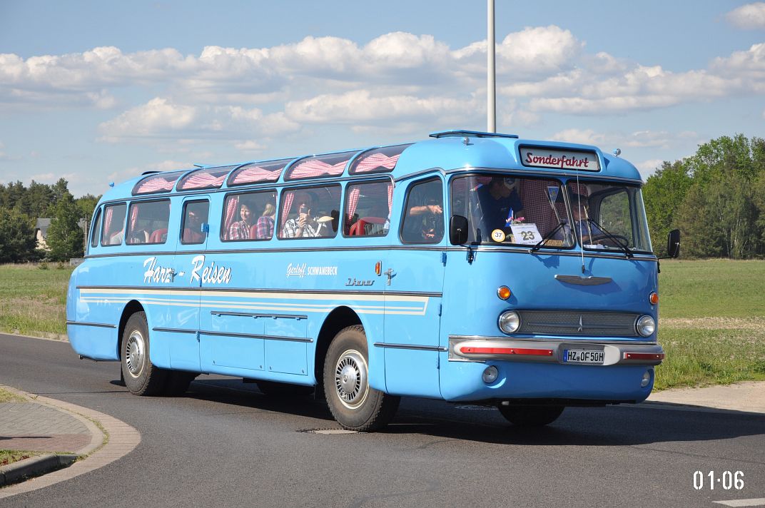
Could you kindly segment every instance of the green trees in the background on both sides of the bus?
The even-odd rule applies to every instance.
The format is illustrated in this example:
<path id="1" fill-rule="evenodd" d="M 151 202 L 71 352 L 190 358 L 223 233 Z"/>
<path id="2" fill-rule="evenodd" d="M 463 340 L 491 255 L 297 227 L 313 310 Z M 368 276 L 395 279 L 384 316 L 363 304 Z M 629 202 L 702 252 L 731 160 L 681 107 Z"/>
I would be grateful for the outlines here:
<path id="1" fill-rule="evenodd" d="M 83 256 L 83 230 L 99 197 L 75 199 L 55 184 L 0 184 L 0 262 Z M 653 249 L 666 256 L 669 230 L 682 232 L 682 257 L 765 257 L 765 140 L 722 136 L 679 161 L 662 163 L 643 187 Z M 47 245 L 35 249 L 37 218 L 50 217 Z"/>

